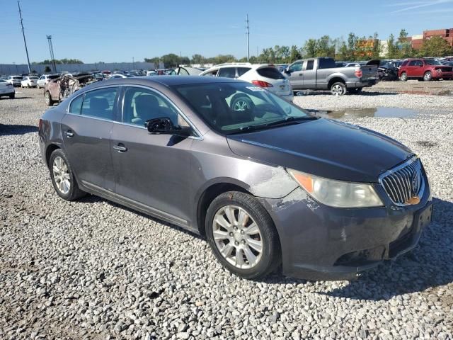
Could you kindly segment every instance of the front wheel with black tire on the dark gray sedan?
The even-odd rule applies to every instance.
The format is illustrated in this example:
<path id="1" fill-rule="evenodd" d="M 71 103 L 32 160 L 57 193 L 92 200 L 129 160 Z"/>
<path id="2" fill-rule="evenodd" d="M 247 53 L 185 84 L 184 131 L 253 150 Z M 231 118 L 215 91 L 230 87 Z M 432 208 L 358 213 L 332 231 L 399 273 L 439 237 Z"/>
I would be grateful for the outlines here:
<path id="1" fill-rule="evenodd" d="M 206 234 L 217 260 L 241 278 L 263 278 L 280 265 L 277 230 L 263 205 L 248 193 L 217 196 L 207 209 Z"/>

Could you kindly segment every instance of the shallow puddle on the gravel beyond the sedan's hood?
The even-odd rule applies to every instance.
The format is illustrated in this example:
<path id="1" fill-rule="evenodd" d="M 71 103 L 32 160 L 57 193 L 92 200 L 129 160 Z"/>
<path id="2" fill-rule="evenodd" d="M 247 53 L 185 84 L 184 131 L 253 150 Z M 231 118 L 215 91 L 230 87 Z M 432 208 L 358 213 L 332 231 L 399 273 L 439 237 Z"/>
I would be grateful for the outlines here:
<path id="1" fill-rule="evenodd" d="M 338 111 L 309 110 L 310 113 L 321 118 L 348 118 L 348 117 L 382 117 L 382 118 L 413 118 L 418 112 L 409 108 L 364 108 L 360 110 L 346 109 Z"/>

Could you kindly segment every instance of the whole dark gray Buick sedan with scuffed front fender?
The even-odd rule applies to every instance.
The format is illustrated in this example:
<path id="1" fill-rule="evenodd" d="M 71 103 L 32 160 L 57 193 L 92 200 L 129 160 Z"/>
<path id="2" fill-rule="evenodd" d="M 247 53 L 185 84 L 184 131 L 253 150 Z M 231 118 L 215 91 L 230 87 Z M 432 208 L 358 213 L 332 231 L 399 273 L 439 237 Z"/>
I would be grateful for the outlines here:
<path id="1" fill-rule="evenodd" d="M 234 79 L 100 81 L 48 110 L 39 135 L 61 198 L 91 193 L 201 234 L 243 278 L 280 263 L 349 278 L 413 249 L 431 219 L 410 149 Z"/>

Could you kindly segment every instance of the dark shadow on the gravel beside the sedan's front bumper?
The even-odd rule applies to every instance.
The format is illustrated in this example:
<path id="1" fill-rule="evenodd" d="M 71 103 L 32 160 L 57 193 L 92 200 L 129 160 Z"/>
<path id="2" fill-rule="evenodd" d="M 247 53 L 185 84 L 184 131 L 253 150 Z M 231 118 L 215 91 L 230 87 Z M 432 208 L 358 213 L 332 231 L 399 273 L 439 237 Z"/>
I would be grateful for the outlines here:
<path id="1" fill-rule="evenodd" d="M 377 301 L 453 283 L 453 203 L 435 198 L 432 220 L 413 251 L 320 294 Z"/>

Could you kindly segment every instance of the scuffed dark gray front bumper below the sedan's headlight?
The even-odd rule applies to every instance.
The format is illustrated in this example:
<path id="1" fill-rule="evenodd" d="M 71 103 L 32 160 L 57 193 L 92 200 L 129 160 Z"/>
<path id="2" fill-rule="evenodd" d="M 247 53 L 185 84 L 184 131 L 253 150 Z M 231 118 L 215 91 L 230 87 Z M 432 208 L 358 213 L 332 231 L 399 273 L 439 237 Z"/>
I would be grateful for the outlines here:
<path id="1" fill-rule="evenodd" d="M 417 205 L 341 209 L 321 205 L 302 188 L 262 199 L 282 247 L 283 273 L 314 280 L 350 279 L 418 244 L 430 223 L 429 188 Z"/>

